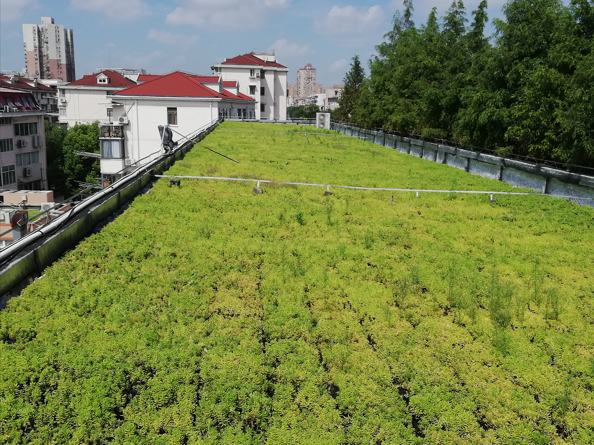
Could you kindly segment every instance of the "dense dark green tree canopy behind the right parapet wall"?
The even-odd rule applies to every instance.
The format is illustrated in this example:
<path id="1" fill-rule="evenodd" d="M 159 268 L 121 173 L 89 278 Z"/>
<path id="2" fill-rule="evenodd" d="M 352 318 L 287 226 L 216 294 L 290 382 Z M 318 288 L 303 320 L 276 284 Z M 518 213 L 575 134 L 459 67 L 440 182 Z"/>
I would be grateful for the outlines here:
<path id="1" fill-rule="evenodd" d="M 510 0 L 492 40 L 484 34 L 486 0 L 470 23 L 462 0 L 441 19 L 434 8 L 419 27 L 412 1 L 403 7 L 360 83 L 353 58 L 337 117 L 594 165 L 594 2 Z"/>

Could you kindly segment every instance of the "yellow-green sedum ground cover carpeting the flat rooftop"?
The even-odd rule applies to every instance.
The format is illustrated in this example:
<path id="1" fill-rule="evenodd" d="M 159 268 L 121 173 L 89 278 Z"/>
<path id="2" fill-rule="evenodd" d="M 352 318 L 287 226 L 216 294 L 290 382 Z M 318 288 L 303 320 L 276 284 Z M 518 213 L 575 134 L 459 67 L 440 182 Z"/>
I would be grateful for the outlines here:
<path id="1" fill-rule="evenodd" d="M 169 173 L 511 190 L 311 127 L 219 130 L 240 164 L 195 146 Z M 252 187 L 160 179 L 10 300 L 0 443 L 592 443 L 593 209 Z"/>

